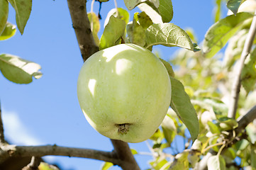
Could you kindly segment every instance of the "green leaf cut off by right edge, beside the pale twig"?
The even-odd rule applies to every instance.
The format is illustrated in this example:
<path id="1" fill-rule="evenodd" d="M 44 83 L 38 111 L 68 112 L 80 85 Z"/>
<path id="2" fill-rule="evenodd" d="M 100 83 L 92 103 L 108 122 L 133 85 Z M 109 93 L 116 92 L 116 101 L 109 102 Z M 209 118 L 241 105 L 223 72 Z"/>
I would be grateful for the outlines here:
<path id="1" fill-rule="evenodd" d="M 242 70 L 241 80 L 247 94 L 255 89 L 256 84 L 256 49 L 245 60 L 245 65 Z"/>

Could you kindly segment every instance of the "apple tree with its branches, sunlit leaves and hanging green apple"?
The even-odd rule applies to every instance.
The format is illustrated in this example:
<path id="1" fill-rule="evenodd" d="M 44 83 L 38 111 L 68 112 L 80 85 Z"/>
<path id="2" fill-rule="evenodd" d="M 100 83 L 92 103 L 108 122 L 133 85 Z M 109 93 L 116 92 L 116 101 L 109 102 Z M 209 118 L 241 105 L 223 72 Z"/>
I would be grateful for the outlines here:
<path id="1" fill-rule="evenodd" d="M 3 122 L 0 119 L 0 164 L 10 158 L 31 157 L 30 163 L 27 162 L 23 169 L 57 169 L 44 163 L 40 157 L 61 155 L 101 160 L 104 162 L 101 169 L 109 169 L 114 165 L 121 169 L 140 169 L 134 158 L 134 154 L 140 152 L 130 149 L 127 142 L 141 142 L 140 137 L 145 135 L 143 140 L 149 138 L 152 144 L 149 146 L 152 155 L 149 169 L 256 169 L 256 1 L 216 0 L 215 23 L 208 28 L 204 41 L 199 45 L 193 30 L 183 30 L 171 23 L 175 8 L 171 0 L 124 0 L 126 8 L 118 8 L 116 4 L 116 8 L 104 16 L 102 35 L 98 33 L 101 16 L 97 16 L 93 10 L 87 12 L 87 6 L 90 3 L 93 6 L 94 2 L 67 0 L 74 33 L 86 65 L 81 71 L 78 96 L 87 120 L 98 132 L 111 138 L 113 151 L 58 145 L 10 145 L 4 138 Z M 107 0 L 99 0 L 99 3 L 107 3 Z M 221 18 L 223 3 L 230 11 Z M 10 5 L 16 11 L 16 25 L 21 34 L 33 7 L 32 0 L 0 0 L 0 40 L 7 40 L 16 33 L 16 26 L 8 22 Z M 133 8 L 139 8 L 140 13 L 131 15 L 128 11 Z M 179 47 L 179 50 L 170 60 L 165 61 L 161 56 L 153 55 L 155 45 Z M 130 50 L 130 46 L 133 50 Z M 142 56 L 133 55 L 134 51 L 143 51 L 140 53 Z M 115 52 L 121 54 L 121 58 L 116 57 Z M 106 53 L 108 57 L 103 57 Z M 144 57 L 144 54 L 148 57 Z M 149 56 L 152 56 L 154 62 Z M 114 57 L 117 58 L 115 62 L 109 62 Z M 143 64 L 150 62 L 150 66 Z M 123 68 L 130 70 L 129 64 L 137 64 L 139 69 L 126 72 Z M 113 76 L 111 70 L 114 68 L 121 71 Z M 42 77 L 39 69 L 39 64 L 21 57 L 5 53 L 0 55 L 1 73 L 16 84 L 29 84 L 33 77 L 39 79 Z M 126 72 L 128 77 L 123 77 L 122 72 Z M 160 79 L 162 74 L 166 75 L 163 78 L 165 81 Z M 88 75 L 91 76 L 89 80 L 84 78 Z M 138 75 L 140 79 L 134 80 L 133 77 Z M 97 80 L 103 82 L 103 85 L 95 86 Z M 150 81 L 153 85 L 149 84 Z M 84 90 L 84 82 L 89 92 L 93 92 L 88 94 Z M 104 89 L 117 82 L 119 86 L 113 86 L 111 91 Z M 162 82 L 167 83 L 160 84 Z M 138 86 L 141 89 L 136 90 Z M 94 91 L 94 88 L 101 89 Z M 162 91 L 165 88 L 169 89 L 169 92 L 165 91 L 165 97 L 154 94 L 154 91 L 164 93 Z M 94 100 L 94 92 L 100 91 L 102 94 L 99 99 L 91 102 Z M 152 94 L 138 98 L 143 91 L 152 91 Z M 109 100 L 111 93 L 126 103 L 121 103 L 122 107 L 119 101 L 113 99 L 116 102 L 113 103 Z M 120 97 L 122 93 L 126 95 Z M 117 127 L 113 125 L 106 132 L 104 128 L 99 128 L 99 123 L 103 121 L 107 125 L 111 121 L 107 118 L 113 118 L 113 113 L 108 113 L 109 103 L 111 111 L 120 113 L 115 113 L 116 120 L 126 117 L 127 111 L 134 114 L 134 119 L 140 119 L 145 129 L 138 125 L 135 131 L 143 132 L 143 135 L 133 135 L 133 123 L 123 120 L 116 124 Z M 144 103 L 151 103 L 152 108 L 156 109 L 148 111 Z M 156 113 L 157 106 L 162 103 L 165 103 L 165 107 L 160 107 L 161 111 Z M 95 112 L 100 114 L 92 118 L 87 114 L 90 111 L 91 115 Z M 101 111 L 110 115 L 101 115 Z M 163 112 L 162 115 L 160 112 Z M 147 113 L 149 118 L 161 117 L 160 122 L 157 124 L 157 121 L 141 118 L 142 113 Z M 128 120 L 128 116 L 125 120 Z M 108 136 L 111 130 L 115 135 Z M 182 152 L 176 148 L 177 141 L 184 148 Z"/>

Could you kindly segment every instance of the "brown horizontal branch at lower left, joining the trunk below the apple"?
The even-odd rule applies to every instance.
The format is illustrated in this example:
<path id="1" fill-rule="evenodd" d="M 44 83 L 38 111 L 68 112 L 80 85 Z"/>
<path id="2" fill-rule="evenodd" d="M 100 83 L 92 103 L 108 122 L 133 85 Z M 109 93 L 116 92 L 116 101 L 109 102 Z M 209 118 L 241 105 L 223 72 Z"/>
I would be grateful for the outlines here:
<path id="1" fill-rule="evenodd" d="M 82 149 L 75 147 L 59 147 L 57 145 L 44 146 L 16 146 L 1 145 L 0 163 L 8 157 L 43 157 L 47 155 L 82 157 L 119 164 L 120 160 L 114 152 L 104 152 L 95 149 Z"/>

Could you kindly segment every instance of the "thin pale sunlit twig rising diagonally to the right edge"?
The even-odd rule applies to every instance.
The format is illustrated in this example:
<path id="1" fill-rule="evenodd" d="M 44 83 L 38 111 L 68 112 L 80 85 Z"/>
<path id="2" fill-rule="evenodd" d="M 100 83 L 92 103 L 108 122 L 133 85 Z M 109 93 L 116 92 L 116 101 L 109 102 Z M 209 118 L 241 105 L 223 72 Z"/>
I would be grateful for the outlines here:
<path id="1" fill-rule="evenodd" d="M 255 39 L 255 33 L 256 33 L 256 11 L 255 11 L 255 16 L 252 19 L 252 24 L 250 26 L 249 33 L 245 40 L 245 45 L 243 47 L 240 60 L 238 61 L 239 62 L 238 69 L 235 69 L 237 73 L 235 74 L 235 80 L 233 82 L 232 91 L 231 91 L 230 104 L 228 108 L 229 118 L 235 118 L 235 113 L 238 108 L 238 99 L 239 99 L 239 92 L 240 92 L 240 86 L 241 86 L 241 73 L 243 70 L 245 59 L 247 55 L 250 54 L 252 42 Z"/>

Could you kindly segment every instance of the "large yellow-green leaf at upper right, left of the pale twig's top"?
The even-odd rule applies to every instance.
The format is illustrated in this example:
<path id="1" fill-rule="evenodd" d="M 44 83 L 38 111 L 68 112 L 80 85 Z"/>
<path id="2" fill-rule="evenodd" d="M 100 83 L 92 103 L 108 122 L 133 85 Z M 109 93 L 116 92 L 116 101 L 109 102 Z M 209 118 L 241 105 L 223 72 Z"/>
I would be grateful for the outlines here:
<path id="1" fill-rule="evenodd" d="M 203 42 L 203 52 L 206 57 L 213 57 L 221 50 L 228 40 L 235 35 L 235 33 L 242 26 L 243 21 L 252 18 L 251 13 L 238 13 L 236 16 L 231 15 L 214 23 L 206 32 Z"/>

